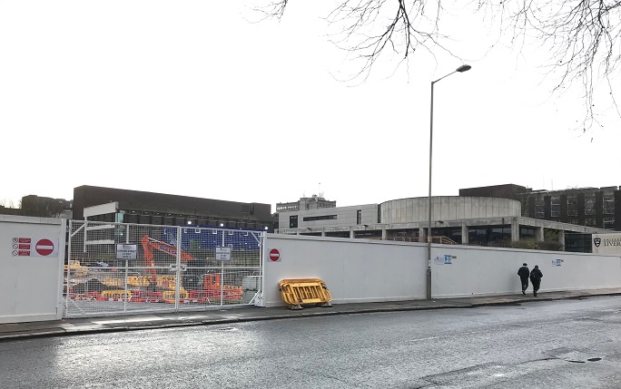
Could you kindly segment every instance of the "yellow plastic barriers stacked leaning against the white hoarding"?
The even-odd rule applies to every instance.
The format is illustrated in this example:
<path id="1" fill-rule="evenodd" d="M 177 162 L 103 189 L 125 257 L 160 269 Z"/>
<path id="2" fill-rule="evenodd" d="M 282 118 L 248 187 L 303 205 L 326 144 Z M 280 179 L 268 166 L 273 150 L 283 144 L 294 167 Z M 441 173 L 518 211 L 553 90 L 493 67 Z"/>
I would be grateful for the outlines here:
<path id="1" fill-rule="evenodd" d="M 291 309 L 301 309 L 302 304 L 331 306 L 332 295 L 326 283 L 319 278 L 281 279 L 278 283 L 282 300 Z"/>

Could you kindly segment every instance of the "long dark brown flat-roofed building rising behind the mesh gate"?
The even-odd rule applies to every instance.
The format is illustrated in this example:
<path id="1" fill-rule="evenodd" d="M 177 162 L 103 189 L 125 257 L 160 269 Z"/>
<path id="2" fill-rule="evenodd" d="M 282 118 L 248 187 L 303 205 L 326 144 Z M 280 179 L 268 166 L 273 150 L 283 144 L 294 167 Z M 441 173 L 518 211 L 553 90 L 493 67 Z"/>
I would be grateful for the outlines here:
<path id="1" fill-rule="evenodd" d="M 74 188 L 74 219 L 273 231 L 271 204 L 200 199 L 93 186 Z"/>

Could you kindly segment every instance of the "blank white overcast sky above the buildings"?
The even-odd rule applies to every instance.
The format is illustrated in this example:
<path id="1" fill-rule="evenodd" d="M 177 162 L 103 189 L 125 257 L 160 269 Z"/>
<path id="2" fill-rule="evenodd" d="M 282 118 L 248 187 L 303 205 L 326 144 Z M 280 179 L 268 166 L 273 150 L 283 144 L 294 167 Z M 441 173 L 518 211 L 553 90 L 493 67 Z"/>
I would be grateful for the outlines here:
<path id="1" fill-rule="evenodd" d="M 325 35 L 328 8 L 290 3 L 253 23 L 251 0 L 0 0 L 0 201 L 81 185 L 272 205 L 427 196 L 429 83 L 462 62 L 420 51 L 342 82 L 357 68 Z M 621 185 L 618 117 L 576 131 L 580 91 L 550 93 L 545 49 L 489 51 L 466 15 L 451 28 L 472 70 L 435 86 L 434 195 Z"/>

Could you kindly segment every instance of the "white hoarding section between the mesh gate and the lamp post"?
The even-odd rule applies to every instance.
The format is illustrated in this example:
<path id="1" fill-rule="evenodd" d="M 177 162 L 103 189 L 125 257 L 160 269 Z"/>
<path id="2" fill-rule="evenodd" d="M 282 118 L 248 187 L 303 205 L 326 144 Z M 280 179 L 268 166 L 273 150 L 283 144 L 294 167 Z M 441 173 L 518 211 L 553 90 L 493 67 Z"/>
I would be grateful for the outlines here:
<path id="1" fill-rule="evenodd" d="M 283 306 L 278 283 L 284 278 L 320 278 L 334 303 L 421 299 L 426 296 L 425 245 L 383 240 L 268 234 L 263 297 L 265 306 Z M 278 262 L 269 253 L 279 250 Z"/>

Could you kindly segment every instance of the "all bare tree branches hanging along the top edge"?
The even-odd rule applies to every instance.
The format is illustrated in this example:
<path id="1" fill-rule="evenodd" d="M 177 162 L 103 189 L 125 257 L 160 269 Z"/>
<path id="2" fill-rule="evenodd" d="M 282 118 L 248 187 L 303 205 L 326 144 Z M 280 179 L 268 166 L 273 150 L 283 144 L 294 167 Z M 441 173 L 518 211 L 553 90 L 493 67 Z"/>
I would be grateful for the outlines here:
<path id="1" fill-rule="evenodd" d="M 262 12 L 280 19 L 287 5 L 289 0 L 275 1 Z M 602 89 L 621 117 L 611 80 L 621 64 L 620 0 L 473 0 L 470 5 L 484 19 L 498 20 L 499 36 L 510 45 L 523 47 L 536 38 L 548 50 L 549 63 L 541 66 L 557 77 L 553 92 L 579 83 L 585 102 L 583 131 L 601 125 L 602 112 L 594 107 Z M 449 36 L 439 26 L 445 13 L 442 0 L 338 0 L 326 20 L 341 26 L 340 39 L 332 42 L 361 61 L 352 79 L 364 81 L 383 54 L 399 55 L 400 64 L 420 48 L 450 53 L 443 44 Z"/>

